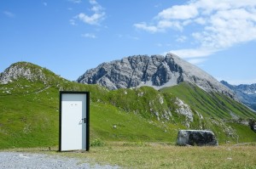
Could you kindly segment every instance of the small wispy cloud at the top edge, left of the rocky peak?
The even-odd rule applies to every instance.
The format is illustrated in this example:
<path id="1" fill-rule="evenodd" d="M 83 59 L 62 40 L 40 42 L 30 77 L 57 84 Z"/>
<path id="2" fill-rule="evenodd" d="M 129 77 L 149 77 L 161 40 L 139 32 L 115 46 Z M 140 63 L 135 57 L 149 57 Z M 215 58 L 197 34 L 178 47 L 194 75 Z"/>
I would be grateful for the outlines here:
<path id="1" fill-rule="evenodd" d="M 102 6 L 99 3 L 97 3 L 96 0 L 90 0 L 89 3 L 92 6 L 90 8 L 90 11 L 92 12 L 92 14 L 88 15 L 88 14 L 80 13 L 77 16 L 75 16 L 75 18 L 89 25 L 100 25 L 102 20 L 105 19 L 105 15 L 106 15 L 104 12 L 104 8 L 102 8 Z"/>

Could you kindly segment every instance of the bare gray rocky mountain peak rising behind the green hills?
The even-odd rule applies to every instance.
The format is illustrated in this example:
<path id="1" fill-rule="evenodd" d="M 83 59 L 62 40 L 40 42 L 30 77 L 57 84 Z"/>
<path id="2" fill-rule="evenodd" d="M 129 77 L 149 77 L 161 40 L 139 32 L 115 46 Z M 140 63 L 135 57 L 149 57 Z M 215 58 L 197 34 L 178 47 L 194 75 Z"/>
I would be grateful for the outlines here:
<path id="1" fill-rule="evenodd" d="M 111 90 L 118 88 L 150 86 L 155 89 L 170 87 L 180 82 L 191 82 L 207 92 L 234 94 L 220 82 L 195 65 L 175 54 L 135 55 L 87 70 L 78 79 L 80 83 L 100 84 Z"/>

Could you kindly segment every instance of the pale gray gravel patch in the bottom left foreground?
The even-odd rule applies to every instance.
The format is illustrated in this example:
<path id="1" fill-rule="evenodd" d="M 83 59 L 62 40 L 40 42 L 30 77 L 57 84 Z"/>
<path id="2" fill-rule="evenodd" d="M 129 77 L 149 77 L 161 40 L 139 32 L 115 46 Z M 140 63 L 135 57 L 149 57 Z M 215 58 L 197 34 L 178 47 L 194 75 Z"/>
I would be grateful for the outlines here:
<path id="1" fill-rule="evenodd" d="M 75 158 L 61 157 L 58 155 L 41 155 L 19 152 L 0 152 L 1 169 L 49 169 L 49 168 L 119 168 L 118 166 L 90 165 L 86 161 Z"/>

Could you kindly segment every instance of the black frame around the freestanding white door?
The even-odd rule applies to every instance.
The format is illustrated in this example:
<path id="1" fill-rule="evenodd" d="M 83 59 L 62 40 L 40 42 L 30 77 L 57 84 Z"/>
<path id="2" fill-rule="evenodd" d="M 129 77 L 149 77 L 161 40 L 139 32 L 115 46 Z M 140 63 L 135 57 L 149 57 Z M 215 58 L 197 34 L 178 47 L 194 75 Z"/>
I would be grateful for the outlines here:
<path id="1" fill-rule="evenodd" d="M 85 139 L 86 139 L 86 145 L 85 145 L 85 150 L 89 151 L 90 149 L 90 92 L 83 92 L 83 91 L 60 91 L 60 108 L 59 108 L 59 151 L 61 150 L 61 102 L 62 102 L 62 94 L 85 94 L 86 95 L 86 108 L 85 108 L 85 116 L 86 116 L 86 130 L 85 130 Z M 79 150 L 79 149 L 73 149 L 73 150 Z M 67 151 L 67 150 L 65 150 Z"/>

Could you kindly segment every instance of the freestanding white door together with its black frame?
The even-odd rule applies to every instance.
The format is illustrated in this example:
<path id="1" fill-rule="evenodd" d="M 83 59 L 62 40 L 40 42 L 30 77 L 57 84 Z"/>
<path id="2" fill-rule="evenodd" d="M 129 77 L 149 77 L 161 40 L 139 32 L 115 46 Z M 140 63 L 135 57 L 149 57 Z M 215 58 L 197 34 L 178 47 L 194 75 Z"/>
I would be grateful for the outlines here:
<path id="1" fill-rule="evenodd" d="M 89 92 L 60 92 L 59 150 L 89 150 Z"/>

